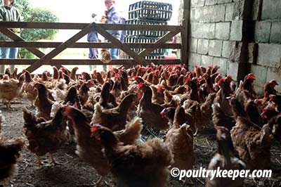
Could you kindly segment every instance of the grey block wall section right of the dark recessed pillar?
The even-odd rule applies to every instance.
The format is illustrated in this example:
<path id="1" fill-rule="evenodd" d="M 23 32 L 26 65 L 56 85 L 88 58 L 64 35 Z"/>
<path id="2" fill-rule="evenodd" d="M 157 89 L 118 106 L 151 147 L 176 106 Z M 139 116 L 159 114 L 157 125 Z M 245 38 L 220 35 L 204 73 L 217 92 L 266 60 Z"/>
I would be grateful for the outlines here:
<path id="1" fill-rule="evenodd" d="M 277 79 L 281 92 L 281 1 L 256 0 L 253 9 L 254 44 L 256 60 L 250 71 L 256 75 L 256 89 L 261 90 L 265 82 Z"/>

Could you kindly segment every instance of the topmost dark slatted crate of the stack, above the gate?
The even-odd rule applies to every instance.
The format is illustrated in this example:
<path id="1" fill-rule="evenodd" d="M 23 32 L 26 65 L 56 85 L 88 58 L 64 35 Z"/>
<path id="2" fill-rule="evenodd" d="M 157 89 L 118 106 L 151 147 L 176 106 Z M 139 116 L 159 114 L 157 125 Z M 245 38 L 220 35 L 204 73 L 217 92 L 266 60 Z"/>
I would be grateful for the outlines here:
<path id="1" fill-rule="evenodd" d="M 129 6 L 129 20 L 145 18 L 150 20 L 170 20 L 173 7 L 171 4 L 139 1 Z"/>

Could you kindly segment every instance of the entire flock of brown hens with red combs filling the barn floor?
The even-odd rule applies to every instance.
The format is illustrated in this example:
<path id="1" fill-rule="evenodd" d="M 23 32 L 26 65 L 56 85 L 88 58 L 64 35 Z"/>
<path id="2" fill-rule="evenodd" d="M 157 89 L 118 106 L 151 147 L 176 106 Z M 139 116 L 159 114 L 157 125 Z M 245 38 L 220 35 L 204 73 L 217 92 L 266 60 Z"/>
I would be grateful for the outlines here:
<path id="1" fill-rule="evenodd" d="M 22 108 L 25 141 L 0 137 L 0 182 L 15 172 L 24 142 L 40 165 L 46 153 L 55 165 L 52 154 L 74 141 L 77 155 L 100 175 L 97 186 L 110 172 L 117 186 L 165 186 L 171 167 L 195 165 L 193 138 L 209 124 L 218 142 L 209 169 L 270 167 L 270 143 L 281 136 L 277 82 L 266 83 L 259 96 L 254 75 L 236 86 L 218 68 L 151 64 L 76 75 L 78 67 L 53 67 L 52 75 L 45 71 L 41 77 L 7 69 L 0 80 L 3 103 L 11 108 L 15 98 L 26 97 L 37 111 Z M 144 138 L 148 127 L 164 138 Z M 206 186 L 229 183 L 242 186 L 243 180 L 206 179 Z"/>

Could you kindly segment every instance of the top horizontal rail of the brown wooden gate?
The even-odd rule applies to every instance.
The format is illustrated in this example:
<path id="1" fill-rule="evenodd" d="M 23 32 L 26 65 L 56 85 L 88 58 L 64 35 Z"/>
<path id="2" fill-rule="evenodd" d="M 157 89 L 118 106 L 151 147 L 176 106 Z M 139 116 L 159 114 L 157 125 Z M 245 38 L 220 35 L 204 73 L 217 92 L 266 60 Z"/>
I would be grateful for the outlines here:
<path id="1" fill-rule="evenodd" d="M 73 22 L 1 22 L 0 28 L 33 28 L 55 30 L 81 30 L 89 23 Z M 171 31 L 181 26 L 176 25 L 126 25 L 126 24 L 97 24 L 104 30 L 159 30 Z"/>

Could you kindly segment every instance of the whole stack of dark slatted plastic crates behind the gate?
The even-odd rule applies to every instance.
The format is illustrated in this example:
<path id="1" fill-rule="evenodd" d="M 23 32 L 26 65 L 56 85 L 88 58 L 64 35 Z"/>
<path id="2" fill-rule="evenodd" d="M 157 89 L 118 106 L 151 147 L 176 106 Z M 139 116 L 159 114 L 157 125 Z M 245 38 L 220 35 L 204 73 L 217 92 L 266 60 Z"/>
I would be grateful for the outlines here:
<path id="1" fill-rule="evenodd" d="M 167 25 L 167 21 L 171 19 L 171 4 L 139 1 L 129 6 L 129 20 L 126 24 L 135 25 Z M 125 32 L 125 42 L 127 43 L 154 43 L 159 37 L 166 34 L 165 31 L 145 31 L 145 30 L 127 30 Z M 140 53 L 143 49 L 133 49 L 136 53 Z M 164 49 L 156 49 L 147 59 L 164 58 Z"/>

